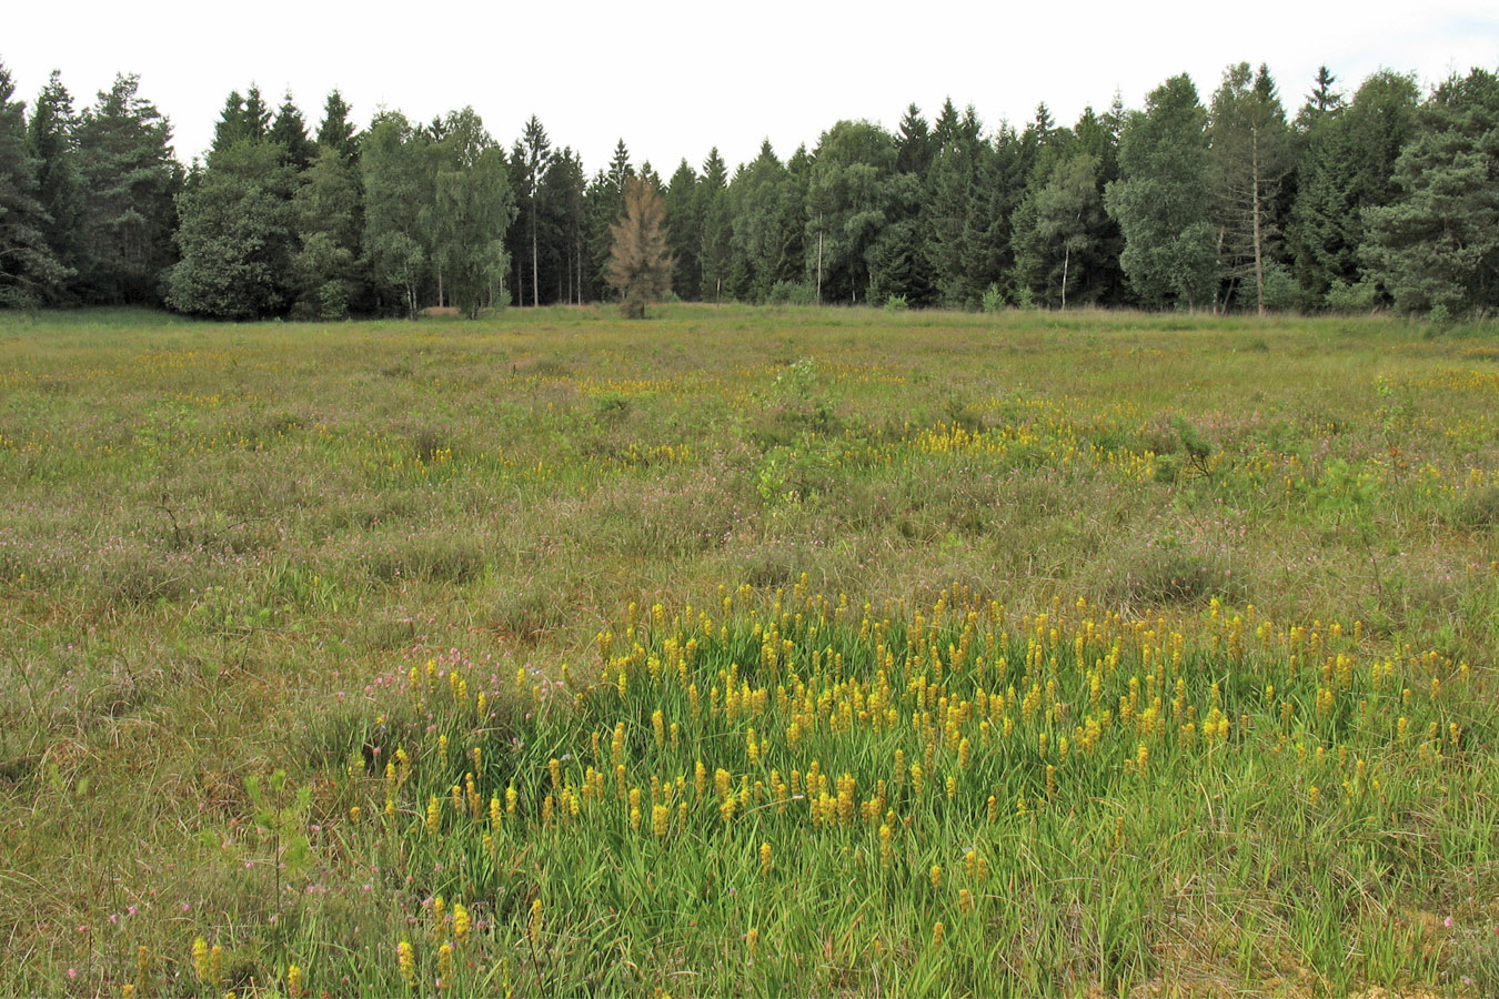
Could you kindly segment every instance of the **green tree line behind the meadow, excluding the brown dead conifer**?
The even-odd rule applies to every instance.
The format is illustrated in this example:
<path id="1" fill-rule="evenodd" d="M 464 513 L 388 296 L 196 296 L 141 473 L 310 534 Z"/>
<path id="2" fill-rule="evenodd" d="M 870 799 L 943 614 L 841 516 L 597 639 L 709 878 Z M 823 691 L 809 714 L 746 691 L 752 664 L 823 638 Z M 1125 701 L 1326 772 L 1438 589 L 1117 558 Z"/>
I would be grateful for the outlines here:
<path id="1" fill-rule="evenodd" d="M 0 64 L 0 306 L 160 304 L 258 319 L 466 315 L 609 298 L 631 181 L 658 192 L 693 301 L 1081 304 L 1457 316 L 1499 306 L 1499 78 L 1421 94 L 1324 67 L 1292 114 L 1265 66 L 1207 97 L 1172 76 L 1070 126 L 986 127 L 950 100 L 895 132 L 838 121 L 730 171 L 663 178 L 624 139 L 592 175 L 535 117 L 505 150 L 472 108 L 379 111 L 231 93 L 202 163 L 121 75 L 84 111 L 30 106 Z M 643 196 L 643 195 L 642 195 Z M 612 228 L 613 226 L 613 228 Z"/>

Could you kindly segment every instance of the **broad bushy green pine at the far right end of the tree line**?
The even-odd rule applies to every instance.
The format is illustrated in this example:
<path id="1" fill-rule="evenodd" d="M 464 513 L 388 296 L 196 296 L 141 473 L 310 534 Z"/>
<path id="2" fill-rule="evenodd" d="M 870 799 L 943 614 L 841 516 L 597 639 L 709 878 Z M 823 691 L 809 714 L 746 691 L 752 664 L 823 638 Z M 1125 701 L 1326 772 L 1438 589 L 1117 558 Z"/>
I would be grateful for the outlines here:
<path id="1" fill-rule="evenodd" d="M 1499 306 L 1499 78 L 1453 76 L 1396 162 L 1400 196 L 1366 214 L 1364 259 L 1406 312 Z"/>

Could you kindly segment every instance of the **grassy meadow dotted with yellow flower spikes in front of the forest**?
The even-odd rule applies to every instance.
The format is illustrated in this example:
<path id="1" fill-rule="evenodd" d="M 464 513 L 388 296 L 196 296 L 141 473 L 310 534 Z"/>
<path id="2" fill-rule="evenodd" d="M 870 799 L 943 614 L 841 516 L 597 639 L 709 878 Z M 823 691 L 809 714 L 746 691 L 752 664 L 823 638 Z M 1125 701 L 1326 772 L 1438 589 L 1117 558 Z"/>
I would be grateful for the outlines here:
<path id="1" fill-rule="evenodd" d="M 1499 995 L 1499 335 L 0 316 L 0 993 Z"/>

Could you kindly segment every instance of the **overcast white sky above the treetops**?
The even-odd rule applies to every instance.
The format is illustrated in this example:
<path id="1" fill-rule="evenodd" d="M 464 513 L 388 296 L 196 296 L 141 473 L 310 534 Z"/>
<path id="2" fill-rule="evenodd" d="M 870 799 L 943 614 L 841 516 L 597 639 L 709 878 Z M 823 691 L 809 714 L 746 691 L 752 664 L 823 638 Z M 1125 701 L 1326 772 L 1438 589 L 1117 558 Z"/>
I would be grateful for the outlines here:
<path id="1" fill-rule="evenodd" d="M 225 96 L 256 82 L 273 105 L 291 88 L 310 127 L 334 87 L 360 126 L 382 105 L 418 120 L 474 105 L 507 148 L 537 114 L 589 174 L 624 138 L 669 177 L 714 145 L 730 169 L 763 138 L 784 159 L 839 118 L 893 130 L 910 102 L 931 118 L 947 96 L 989 127 L 1028 121 L 1040 100 L 1070 124 L 1115 90 L 1138 108 L 1180 72 L 1207 102 L 1237 61 L 1268 63 L 1291 114 L 1322 63 L 1349 91 L 1381 67 L 1424 88 L 1499 69 L 1499 4 L 82 0 L 10 4 L 0 61 L 28 103 L 60 69 L 78 108 L 138 73 L 183 162 L 207 148 Z"/>

